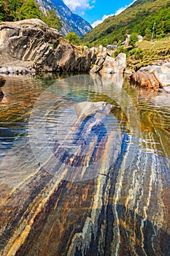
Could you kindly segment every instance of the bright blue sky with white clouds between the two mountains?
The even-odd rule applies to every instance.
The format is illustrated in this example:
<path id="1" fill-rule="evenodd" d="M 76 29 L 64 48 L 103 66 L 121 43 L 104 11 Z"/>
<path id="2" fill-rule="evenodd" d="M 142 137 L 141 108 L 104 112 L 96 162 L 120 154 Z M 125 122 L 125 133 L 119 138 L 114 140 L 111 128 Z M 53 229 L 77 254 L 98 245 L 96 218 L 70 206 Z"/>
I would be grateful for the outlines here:
<path id="1" fill-rule="evenodd" d="M 109 15 L 117 15 L 125 10 L 133 0 L 63 0 L 72 12 L 77 13 L 94 26 Z"/>

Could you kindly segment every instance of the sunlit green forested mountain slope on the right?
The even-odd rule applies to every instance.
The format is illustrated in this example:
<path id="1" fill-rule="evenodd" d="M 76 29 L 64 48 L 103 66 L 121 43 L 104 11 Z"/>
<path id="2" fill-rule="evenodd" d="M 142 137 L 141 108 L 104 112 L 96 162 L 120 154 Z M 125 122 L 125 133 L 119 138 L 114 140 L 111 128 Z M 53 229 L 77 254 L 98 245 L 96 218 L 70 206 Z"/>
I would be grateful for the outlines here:
<path id="1" fill-rule="evenodd" d="M 163 37 L 170 32 L 169 0 L 137 0 L 120 15 L 107 18 L 85 34 L 82 42 L 91 46 L 106 46 L 114 41 L 124 40 L 125 34 L 133 32 L 151 39 L 154 23 L 155 37 Z"/>

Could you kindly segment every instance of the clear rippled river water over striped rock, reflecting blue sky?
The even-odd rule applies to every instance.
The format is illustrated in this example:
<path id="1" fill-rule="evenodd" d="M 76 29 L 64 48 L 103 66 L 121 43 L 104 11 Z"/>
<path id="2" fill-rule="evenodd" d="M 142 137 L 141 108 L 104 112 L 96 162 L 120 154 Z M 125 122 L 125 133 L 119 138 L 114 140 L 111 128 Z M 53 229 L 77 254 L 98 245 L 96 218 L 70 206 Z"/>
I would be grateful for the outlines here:
<path id="1" fill-rule="evenodd" d="M 118 75 L 2 90 L 1 255 L 169 255 L 170 94 Z"/>

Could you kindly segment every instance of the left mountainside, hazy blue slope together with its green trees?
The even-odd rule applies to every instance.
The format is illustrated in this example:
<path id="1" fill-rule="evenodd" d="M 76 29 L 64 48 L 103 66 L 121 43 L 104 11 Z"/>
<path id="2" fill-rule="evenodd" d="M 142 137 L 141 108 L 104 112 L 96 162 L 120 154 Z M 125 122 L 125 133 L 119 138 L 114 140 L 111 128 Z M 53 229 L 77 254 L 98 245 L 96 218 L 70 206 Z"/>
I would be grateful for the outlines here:
<path id="1" fill-rule="evenodd" d="M 82 36 L 92 29 L 90 24 L 66 7 L 63 0 L 0 0 L 0 22 L 40 18 L 63 35 L 75 32 Z M 62 26 L 61 26 L 62 23 Z"/>

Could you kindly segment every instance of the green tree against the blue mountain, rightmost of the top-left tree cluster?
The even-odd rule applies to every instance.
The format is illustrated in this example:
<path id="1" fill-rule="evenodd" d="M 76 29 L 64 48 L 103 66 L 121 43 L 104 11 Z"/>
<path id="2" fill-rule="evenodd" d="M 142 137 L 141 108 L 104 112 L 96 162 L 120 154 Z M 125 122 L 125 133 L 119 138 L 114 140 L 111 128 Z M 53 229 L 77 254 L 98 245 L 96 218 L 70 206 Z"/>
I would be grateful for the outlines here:
<path id="1" fill-rule="evenodd" d="M 50 28 L 61 30 L 62 22 L 55 13 L 55 10 L 49 10 L 46 15 L 42 15 L 42 20 L 50 26 Z"/>

